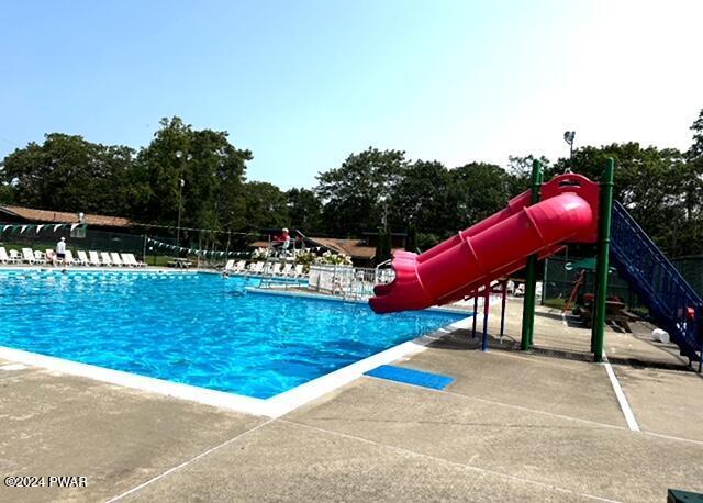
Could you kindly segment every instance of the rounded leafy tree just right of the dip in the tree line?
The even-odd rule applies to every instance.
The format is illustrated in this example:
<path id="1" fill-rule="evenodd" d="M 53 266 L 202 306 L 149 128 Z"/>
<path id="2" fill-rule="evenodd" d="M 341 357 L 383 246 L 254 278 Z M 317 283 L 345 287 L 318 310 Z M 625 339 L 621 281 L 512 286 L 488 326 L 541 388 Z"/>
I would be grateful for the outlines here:
<path id="1" fill-rule="evenodd" d="M 406 168 L 404 152 L 369 147 L 320 174 L 315 192 L 324 204 L 325 231 L 345 236 L 378 227 Z"/>

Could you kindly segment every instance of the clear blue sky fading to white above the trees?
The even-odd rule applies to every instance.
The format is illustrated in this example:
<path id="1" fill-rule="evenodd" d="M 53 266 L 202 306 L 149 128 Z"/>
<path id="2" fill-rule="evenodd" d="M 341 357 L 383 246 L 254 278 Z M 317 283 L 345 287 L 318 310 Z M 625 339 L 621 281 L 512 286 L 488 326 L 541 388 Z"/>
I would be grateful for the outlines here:
<path id="1" fill-rule="evenodd" d="M 226 130 L 311 187 L 369 145 L 448 166 L 577 143 L 687 148 L 703 2 L 27 1 L 0 7 L 0 157 L 48 132 Z"/>

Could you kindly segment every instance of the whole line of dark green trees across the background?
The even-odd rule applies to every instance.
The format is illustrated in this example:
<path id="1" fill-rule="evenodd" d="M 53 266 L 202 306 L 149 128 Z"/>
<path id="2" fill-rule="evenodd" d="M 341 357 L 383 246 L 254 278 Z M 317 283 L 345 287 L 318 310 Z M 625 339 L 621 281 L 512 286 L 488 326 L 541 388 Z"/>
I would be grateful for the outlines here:
<path id="1" fill-rule="evenodd" d="M 691 131 L 687 152 L 631 142 L 580 147 L 572 159 L 542 158 L 545 179 L 567 169 L 598 179 L 605 159 L 614 157 L 615 198 L 654 241 L 671 256 L 701 254 L 703 110 Z M 369 147 L 320 172 L 314 188 L 283 191 L 248 181 L 252 159 L 226 132 L 194 130 L 179 118 L 161 120 L 149 145 L 138 150 L 51 133 L 43 144 L 30 143 L 4 158 L 0 202 L 171 226 L 180 202 L 182 227 L 256 235 L 288 226 L 337 237 L 383 228 L 409 232 L 412 246 L 426 249 L 526 190 L 533 161 L 527 156 L 511 157 L 506 166 L 447 167 Z M 222 239 L 217 236 L 207 237 Z"/>

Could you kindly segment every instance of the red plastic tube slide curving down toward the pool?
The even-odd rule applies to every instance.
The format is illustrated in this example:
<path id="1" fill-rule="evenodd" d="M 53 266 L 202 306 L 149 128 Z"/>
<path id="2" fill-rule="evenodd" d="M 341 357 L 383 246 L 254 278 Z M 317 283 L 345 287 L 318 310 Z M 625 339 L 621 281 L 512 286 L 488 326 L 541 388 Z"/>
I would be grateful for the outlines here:
<path id="1" fill-rule="evenodd" d="M 542 188 L 542 200 L 528 206 L 529 191 L 507 208 L 466 228 L 424 254 L 395 252 L 395 279 L 373 289 L 377 313 L 443 305 L 476 292 L 490 281 L 540 258 L 565 243 L 594 243 L 599 186 L 581 175 L 560 175 Z"/>

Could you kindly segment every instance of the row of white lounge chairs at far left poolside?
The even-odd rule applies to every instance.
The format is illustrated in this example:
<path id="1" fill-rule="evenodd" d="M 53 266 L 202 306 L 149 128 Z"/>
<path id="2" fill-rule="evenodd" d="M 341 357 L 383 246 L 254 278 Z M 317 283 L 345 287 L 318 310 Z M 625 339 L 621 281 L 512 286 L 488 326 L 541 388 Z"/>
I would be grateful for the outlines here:
<path id="1" fill-rule="evenodd" d="M 64 259 L 56 259 L 57 264 L 64 266 L 109 266 L 109 267 L 145 267 L 141 260 L 137 260 L 134 254 L 119 254 L 116 252 L 86 252 L 78 250 L 78 258 L 74 257 L 71 250 L 66 250 Z M 0 246 L 0 264 L 30 264 L 30 265 L 46 265 L 54 264 L 54 257 L 56 254 L 53 249 L 47 249 L 46 253 L 40 250 L 33 250 L 32 248 L 22 248 L 22 255 L 18 250 L 11 249 L 10 253 Z"/>

